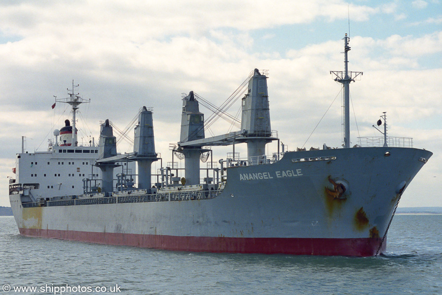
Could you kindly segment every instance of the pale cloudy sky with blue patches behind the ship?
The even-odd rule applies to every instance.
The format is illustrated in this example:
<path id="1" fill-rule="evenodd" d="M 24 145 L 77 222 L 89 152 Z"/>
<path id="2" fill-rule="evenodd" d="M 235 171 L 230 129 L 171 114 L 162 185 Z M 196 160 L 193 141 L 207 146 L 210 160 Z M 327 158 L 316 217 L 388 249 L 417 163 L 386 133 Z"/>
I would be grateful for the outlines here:
<path id="1" fill-rule="evenodd" d="M 156 149 L 170 162 L 182 93 L 221 105 L 258 68 L 269 70 L 272 129 L 289 150 L 341 147 L 341 85 L 330 71 L 343 70 L 345 33 L 349 70 L 363 72 L 350 86 L 352 146 L 358 137 L 382 136 L 372 125 L 387 112 L 389 136 L 413 138 L 414 148 L 434 153 L 400 207 L 442 206 L 435 189 L 442 179 L 442 0 L 2 0 L 0 206 L 9 206 L 7 177 L 14 177 L 21 137 L 29 152 L 47 149 L 69 118 L 65 105 L 51 108 L 54 96 L 67 97 L 73 80 L 90 99 L 78 116 L 79 142 L 98 140 L 100 120 L 124 129 L 142 106 L 153 107 Z M 218 120 L 211 132 L 229 128 Z M 131 151 L 125 142 L 118 149 Z M 243 157 L 245 150 L 236 147 Z"/>

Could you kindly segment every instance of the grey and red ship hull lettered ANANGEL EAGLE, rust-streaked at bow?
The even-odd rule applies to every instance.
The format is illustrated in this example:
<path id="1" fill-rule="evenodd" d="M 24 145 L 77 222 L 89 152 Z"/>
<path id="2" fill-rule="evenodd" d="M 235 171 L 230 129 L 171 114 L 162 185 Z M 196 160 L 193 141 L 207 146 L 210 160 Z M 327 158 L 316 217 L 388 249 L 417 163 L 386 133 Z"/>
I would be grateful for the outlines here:
<path id="1" fill-rule="evenodd" d="M 388 153 L 387 153 L 388 152 Z M 182 251 L 372 256 L 393 210 L 432 155 L 415 148 L 286 152 L 227 168 L 209 199 L 11 207 L 22 235 Z M 380 249 L 378 249 L 381 247 Z"/>

